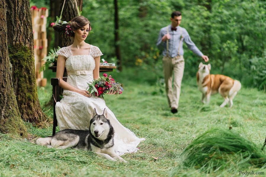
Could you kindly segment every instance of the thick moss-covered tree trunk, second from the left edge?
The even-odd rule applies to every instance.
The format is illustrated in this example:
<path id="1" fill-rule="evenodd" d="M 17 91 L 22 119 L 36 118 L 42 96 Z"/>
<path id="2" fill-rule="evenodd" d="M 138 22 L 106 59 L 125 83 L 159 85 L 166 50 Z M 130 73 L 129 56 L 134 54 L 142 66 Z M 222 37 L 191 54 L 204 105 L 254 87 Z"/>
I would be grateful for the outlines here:
<path id="1" fill-rule="evenodd" d="M 21 118 L 40 124 L 45 115 L 38 100 L 29 0 L 6 0 L 9 58 Z"/>

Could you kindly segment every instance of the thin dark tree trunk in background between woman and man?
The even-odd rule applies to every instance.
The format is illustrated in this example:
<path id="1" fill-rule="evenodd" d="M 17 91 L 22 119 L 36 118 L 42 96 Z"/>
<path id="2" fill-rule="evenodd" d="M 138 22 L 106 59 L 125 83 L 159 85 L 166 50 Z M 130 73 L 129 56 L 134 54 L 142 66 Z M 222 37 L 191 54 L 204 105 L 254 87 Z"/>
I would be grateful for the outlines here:
<path id="1" fill-rule="evenodd" d="M 119 18 L 118 18 L 118 5 L 117 0 L 114 0 L 114 6 L 115 6 L 115 54 L 117 58 L 117 65 L 118 70 L 122 71 L 122 59 L 121 59 L 121 53 L 120 53 L 120 46 L 119 46 Z"/>

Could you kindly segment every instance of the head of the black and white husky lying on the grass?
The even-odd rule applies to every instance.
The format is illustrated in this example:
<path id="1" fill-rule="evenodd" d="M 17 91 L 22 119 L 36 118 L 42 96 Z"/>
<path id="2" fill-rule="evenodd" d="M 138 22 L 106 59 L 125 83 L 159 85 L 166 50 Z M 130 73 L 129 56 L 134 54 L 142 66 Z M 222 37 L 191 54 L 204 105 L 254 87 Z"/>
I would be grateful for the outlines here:
<path id="1" fill-rule="evenodd" d="M 93 109 L 90 130 L 91 134 L 99 140 L 107 138 L 110 130 L 110 121 L 107 119 L 107 110 L 105 108 L 102 115 L 97 114 L 96 109 Z"/>

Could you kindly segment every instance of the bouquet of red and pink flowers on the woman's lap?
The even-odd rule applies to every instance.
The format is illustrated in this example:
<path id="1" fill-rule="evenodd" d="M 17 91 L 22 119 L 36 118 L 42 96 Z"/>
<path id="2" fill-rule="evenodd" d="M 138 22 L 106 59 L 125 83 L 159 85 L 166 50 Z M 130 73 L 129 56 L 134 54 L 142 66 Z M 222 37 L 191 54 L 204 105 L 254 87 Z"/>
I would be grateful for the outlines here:
<path id="1" fill-rule="evenodd" d="M 116 92 L 115 95 L 122 94 L 123 91 L 121 84 L 115 82 L 111 75 L 108 77 L 106 73 L 100 78 L 89 82 L 87 89 L 91 94 L 99 97 L 103 97 L 109 91 Z"/>

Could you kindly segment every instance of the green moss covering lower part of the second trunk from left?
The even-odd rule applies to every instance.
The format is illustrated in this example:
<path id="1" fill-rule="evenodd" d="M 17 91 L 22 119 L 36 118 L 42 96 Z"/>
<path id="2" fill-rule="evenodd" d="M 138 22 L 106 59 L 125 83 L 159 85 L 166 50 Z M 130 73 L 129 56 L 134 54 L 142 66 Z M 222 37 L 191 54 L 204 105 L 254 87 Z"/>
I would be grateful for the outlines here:
<path id="1" fill-rule="evenodd" d="M 33 52 L 27 46 L 8 47 L 12 64 L 14 92 L 22 119 L 40 124 L 45 115 L 41 112 L 35 79 Z"/>

